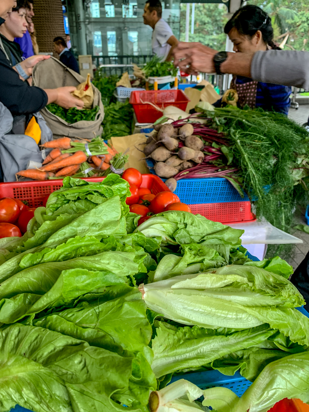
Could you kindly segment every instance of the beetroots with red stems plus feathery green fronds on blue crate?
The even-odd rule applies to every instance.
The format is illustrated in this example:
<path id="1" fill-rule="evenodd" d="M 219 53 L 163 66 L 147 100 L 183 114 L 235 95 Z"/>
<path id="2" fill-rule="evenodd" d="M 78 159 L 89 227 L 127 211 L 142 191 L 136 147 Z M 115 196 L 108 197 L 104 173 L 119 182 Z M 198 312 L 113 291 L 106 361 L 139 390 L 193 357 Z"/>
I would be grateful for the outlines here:
<path id="1" fill-rule="evenodd" d="M 164 113 L 144 148 L 155 172 L 171 178 L 167 185 L 227 178 L 242 197 L 248 194 L 257 218 L 290 232 L 295 206 L 309 203 L 307 131 L 279 113 L 234 106 L 179 117 Z"/>

